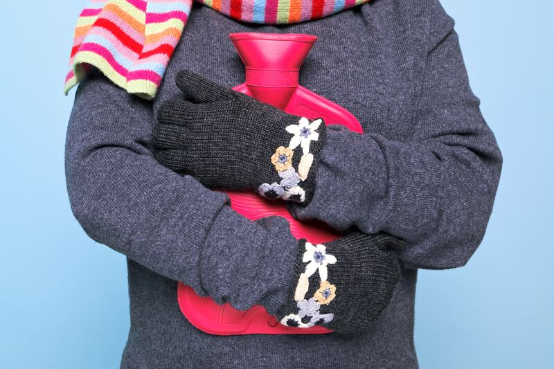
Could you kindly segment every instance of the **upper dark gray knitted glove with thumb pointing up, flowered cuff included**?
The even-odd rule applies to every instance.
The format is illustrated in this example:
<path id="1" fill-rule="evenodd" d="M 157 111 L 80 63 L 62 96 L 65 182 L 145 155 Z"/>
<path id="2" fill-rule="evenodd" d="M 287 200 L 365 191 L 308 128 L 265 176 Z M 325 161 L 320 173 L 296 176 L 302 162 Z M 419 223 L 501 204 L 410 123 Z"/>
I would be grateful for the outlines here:
<path id="1" fill-rule="evenodd" d="M 163 102 L 157 111 L 160 163 L 209 188 L 310 200 L 323 120 L 310 123 L 190 71 L 177 73 L 176 82 L 185 98 Z"/>

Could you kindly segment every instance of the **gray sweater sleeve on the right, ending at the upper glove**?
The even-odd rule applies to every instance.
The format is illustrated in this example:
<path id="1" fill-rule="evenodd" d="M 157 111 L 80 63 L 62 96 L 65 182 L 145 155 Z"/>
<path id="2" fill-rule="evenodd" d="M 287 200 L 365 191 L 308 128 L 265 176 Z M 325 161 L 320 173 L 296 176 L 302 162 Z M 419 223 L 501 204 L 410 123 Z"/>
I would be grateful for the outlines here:
<path id="1" fill-rule="evenodd" d="M 470 89 L 454 22 L 435 3 L 413 136 L 330 127 L 313 200 L 293 212 L 341 230 L 385 231 L 409 244 L 407 267 L 444 269 L 465 264 L 481 242 L 502 159 Z"/>

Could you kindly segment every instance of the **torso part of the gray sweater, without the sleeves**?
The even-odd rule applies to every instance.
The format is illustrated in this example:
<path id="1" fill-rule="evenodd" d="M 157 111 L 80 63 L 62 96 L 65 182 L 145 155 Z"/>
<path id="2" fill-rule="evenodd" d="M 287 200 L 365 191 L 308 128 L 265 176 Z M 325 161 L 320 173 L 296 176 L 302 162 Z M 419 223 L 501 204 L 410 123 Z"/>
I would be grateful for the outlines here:
<path id="1" fill-rule="evenodd" d="M 412 134 L 421 68 L 418 37 L 395 1 L 376 1 L 288 26 L 243 24 L 195 4 L 154 100 L 177 94 L 175 75 L 190 69 L 233 87 L 244 65 L 229 33 L 307 33 L 319 39 L 300 84 L 348 109 L 364 132 L 402 140 Z M 177 282 L 129 261 L 131 330 L 125 368 L 414 368 L 413 303 L 417 272 L 402 271 L 391 304 L 365 334 L 213 336 L 190 325 L 177 304 Z"/>

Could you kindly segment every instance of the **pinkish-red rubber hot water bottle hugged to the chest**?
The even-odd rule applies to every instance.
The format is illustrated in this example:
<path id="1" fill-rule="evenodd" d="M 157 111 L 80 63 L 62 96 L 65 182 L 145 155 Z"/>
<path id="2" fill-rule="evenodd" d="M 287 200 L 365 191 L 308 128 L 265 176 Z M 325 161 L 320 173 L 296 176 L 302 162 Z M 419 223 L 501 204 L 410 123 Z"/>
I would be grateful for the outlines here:
<path id="1" fill-rule="evenodd" d="M 317 37 L 302 34 L 232 33 L 231 41 L 246 66 L 246 82 L 234 87 L 257 100 L 287 113 L 306 118 L 323 118 L 326 125 L 340 124 L 362 132 L 358 120 L 334 102 L 298 84 L 298 71 Z M 287 219 L 292 235 L 319 244 L 336 240 L 340 235 L 321 222 L 299 222 L 291 217 L 284 204 L 263 199 L 255 193 L 227 192 L 231 208 L 252 220 L 271 215 Z M 177 289 L 179 307 L 188 321 L 211 334 L 321 334 L 325 327 L 287 327 L 278 323 L 264 307 L 246 311 L 219 305 L 209 297 L 200 297 L 182 283 Z"/>

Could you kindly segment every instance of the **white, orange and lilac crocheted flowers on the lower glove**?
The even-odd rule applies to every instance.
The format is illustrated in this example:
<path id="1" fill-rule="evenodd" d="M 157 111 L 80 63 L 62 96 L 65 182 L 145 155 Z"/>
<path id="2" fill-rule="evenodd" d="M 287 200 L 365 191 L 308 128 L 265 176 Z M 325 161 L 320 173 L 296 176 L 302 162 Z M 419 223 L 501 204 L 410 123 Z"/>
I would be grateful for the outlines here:
<path id="1" fill-rule="evenodd" d="M 298 278 L 298 284 L 294 291 L 294 300 L 298 307 L 297 314 L 288 314 L 280 320 L 280 323 L 289 327 L 309 328 L 314 325 L 329 323 L 333 320 L 332 313 L 321 314 L 322 305 L 329 305 L 335 298 L 337 287 L 328 282 L 328 264 L 337 263 L 337 258 L 330 253 L 326 253 L 325 245 L 311 244 L 305 242 L 305 252 L 302 255 L 302 262 L 308 263 L 303 273 Z M 319 271 L 319 289 L 314 296 L 308 300 L 305 299 L 310 281 L 309 278 Z"/>

